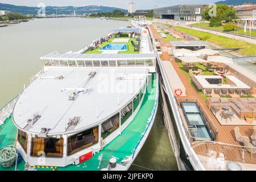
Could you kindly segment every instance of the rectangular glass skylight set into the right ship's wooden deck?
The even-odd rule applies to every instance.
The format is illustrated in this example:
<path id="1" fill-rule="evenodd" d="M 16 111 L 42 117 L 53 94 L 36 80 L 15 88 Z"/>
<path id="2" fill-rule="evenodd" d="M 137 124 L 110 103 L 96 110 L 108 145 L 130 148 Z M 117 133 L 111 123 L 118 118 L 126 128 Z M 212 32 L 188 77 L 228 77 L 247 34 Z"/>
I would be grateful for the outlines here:
<path id="1" fill-rule="evenodd" d="M 213 140 L 213 135 L 210 133 L 205 119 L 198 109 L 196 102 L 181 102 L 182 110 L 185 114 L 186 121 L 192 128 L 193 135 L 196 138 Z"/>

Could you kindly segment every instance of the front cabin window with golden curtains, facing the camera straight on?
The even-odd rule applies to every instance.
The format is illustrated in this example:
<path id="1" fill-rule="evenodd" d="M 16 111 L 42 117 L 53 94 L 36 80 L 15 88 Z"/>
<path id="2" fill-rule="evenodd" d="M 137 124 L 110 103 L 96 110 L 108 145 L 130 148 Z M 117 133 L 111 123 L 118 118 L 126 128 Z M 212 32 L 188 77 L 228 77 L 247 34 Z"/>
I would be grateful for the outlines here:
<path id="1" fill-rule="evenodd" d="M 44 152 L 46 157 L 63 157 L 63 138 L 32 138 L 31 156 L 39 157 Z"/>

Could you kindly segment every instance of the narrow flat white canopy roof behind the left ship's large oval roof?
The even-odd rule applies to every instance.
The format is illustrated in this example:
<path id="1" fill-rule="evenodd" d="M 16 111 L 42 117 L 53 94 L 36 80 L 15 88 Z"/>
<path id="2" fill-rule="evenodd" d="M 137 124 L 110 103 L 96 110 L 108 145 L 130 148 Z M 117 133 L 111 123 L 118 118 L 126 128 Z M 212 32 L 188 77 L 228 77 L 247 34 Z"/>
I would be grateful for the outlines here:
<path id="1" fill-rule="evenodd" d="M 128 60 L 156 59 L 155 53 L 58 53 L 52 52 L 40 57 L 41 60 Z"/>

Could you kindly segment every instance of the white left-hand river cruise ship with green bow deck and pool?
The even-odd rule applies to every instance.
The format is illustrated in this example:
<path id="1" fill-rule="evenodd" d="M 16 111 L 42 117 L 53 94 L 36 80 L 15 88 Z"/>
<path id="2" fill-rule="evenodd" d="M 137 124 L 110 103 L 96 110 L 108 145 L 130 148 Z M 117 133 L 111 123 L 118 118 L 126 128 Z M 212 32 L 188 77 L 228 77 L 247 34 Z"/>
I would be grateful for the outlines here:
<path id="1" fill-rule="evenodd" d="M 40 61 L 42 71 L 0 110 L 0 170 L 127 170 L 157 111 L 148 28 L 118 28 Z"/>

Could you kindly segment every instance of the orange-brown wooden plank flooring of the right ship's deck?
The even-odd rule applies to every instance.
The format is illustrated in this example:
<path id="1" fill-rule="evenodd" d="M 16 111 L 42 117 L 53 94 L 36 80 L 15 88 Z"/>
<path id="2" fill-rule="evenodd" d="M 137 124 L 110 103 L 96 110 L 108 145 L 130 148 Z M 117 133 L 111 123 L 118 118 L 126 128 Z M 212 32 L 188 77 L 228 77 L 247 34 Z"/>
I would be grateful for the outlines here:
<path id="1" fill-rule="evenodd" d="M 162 42 L 163 40 L 161 39 L 160 34 L 155 30 L 155 28 L 153 26 L 149 26 L 149 28 L 151 28 L 151 31 L 153 32 L 153 36 L 156 36 L 155 38 L 157 38 L 160 42 Z M 177 32 L 173 30 L 170 30 L 170 31 L 172 31 L 174 34 L 177 34 Z M 182 35 L 182 34 L 179 34 L 179 35 Z M 182 40 L 184 40 L 183 36 L 181 36 L 181 38 Z M 196 90 L 194 90 L 188 77 L 178 67 L 178 64 L 175 61 L 171 61 L 171 63 L 186 88 L 186 98 L 197 98 L 202 108 L 206 111 L 206 113 L 209 115 L 214 125 L 217 127 L 218 129 L 217 142 L 234 144 L 235 143 L 234 128 L 236 126 L 220 125 L 220 123 L 217 121 L 212 111 L 210 111 L 210 109 L 206 105 L 203 98 L 200 96 L 200 94 L 196 92 Z M 251 134 L 253 134 L 253 126 L 239 126 L 239 128 L 240 128 L 241 134 L 244 136 L 247 136 L 250 138 Z M 217 151 L 218 153 L 220 152 L 224 153 L 226 160 L 242 162 L 242 156 L 241 156 L 242 148 L 238 149 L 236 147 L 220 146 L 220 144 L 211 144 L 210 147 L 209 145 L 206 146 L 206 144 L 200 144 L 200 146 L 196 146 L 196 145 L 197 144 L 193 144 L 193 147 L 194 147 L 194 151 L 198 155 L 206 156 L 208 149 L 210 149 L 210 150 Z M 241 146 L 241 143 L 237 142 L 236 145 Z M 245 162 L 249 164 L 256 164 L 256 155 L 253 155 L 253 162 L 252 162 L 250 154 L 248 152 L 245 152 Z"/>

